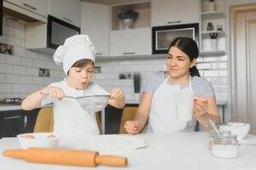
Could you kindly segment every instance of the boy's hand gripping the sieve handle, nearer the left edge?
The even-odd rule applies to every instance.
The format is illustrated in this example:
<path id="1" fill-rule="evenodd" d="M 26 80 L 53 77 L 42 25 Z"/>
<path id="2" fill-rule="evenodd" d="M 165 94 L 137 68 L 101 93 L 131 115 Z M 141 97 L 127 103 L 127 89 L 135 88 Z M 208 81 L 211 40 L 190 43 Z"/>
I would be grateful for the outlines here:
<path id="1" fill-rule="evenodd" d="M 63 90 L 55 86 L 49 86 L 47 88 L 44 88 L 43 90 L 41 90 L 40 93 L 43 95 L 48 94 L 53 99 L 63 99 L 63 97 L 65 96 Z"/>

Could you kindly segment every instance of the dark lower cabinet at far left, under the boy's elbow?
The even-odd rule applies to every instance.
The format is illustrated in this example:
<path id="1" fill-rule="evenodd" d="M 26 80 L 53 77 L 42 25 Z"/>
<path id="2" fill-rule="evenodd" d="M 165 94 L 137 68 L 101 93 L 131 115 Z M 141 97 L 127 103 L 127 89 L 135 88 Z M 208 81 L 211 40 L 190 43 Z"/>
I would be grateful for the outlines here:
<path id="1" fill-rule="evenodd" d="M 15 137 L 20 133 L 32 133 L 39 109 L 32 111 L 1 111 L 0 138 Z"/>

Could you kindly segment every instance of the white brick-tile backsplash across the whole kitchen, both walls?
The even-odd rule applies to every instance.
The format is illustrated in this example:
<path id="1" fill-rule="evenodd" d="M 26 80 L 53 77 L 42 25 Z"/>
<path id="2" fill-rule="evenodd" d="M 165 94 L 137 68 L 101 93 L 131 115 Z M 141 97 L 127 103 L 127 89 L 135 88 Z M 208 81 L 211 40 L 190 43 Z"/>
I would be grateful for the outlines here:
<path id="1" fill-rule="evenodd" d="M 52 55 L 38 53 L 25 48 L 26 23 L 3 17 L 3 36 L 0 43 L 14 46 L 14 55 L 0 54 L 0 98 L 25 97 L 51 82 L 59 82 L 65 77 L 60 66 L 55 65 Z M 90 36 L 90 35 L 89 35 Z M 93 42 L 93 40 L 92 40 Z M 197 67 L 201 77 L 212 82 L 218 99 L 227 100 L 228 94 L 228 57 L 207 56 L 198 59 Z M 166 59 L 115 59 L 97 60 L 101 73 L 96 73 L 94 81 L 108 91 L 123 88 L 128 101 L 138 101 L 134 93 L 133 75 L 141 77 L 140 91 L 143 90 L 149 75 L 154 71 L 166 70 Z M 39 69 L 48 69 L 49 77 L 39 77 Z M 124 73 L 126 79 L 119 79 Z"/>

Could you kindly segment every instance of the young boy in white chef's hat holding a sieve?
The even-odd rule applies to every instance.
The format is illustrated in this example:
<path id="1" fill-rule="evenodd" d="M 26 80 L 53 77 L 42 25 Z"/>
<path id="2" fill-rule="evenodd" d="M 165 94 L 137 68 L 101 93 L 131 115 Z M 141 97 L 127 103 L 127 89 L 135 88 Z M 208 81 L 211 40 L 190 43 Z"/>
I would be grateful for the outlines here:
<path id="1" fill-rule="evenodd" d="M 30 94 L 22 101 L 22 109 L 32 110 L 53 103 L 54 133 L 99 134 L 95 113 L 84 111 L 76 99 L 63 98 L 108 94 L 95 82 L 90 82 L 95 67 L 95 48 L 90 38 L 86 35 L 68 37 L 63 46 L 56 49 L 54 59 L 57 65 L 63 65 L 67 79 Z M 112 90 L 108 104 L 117 108 L 125 106 L 121 89 Z"/>

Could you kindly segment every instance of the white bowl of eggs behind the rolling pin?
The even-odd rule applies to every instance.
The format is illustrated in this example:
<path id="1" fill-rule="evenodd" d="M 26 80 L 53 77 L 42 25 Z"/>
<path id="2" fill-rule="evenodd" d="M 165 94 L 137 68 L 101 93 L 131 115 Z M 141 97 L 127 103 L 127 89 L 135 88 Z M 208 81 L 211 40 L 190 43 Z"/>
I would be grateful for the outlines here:
<path id="1" fill-rule="evenodd" d="M 48 138 L 53 135 L 53 138 Z M 34 138 L 28 138 L 34 137 Z M 29 147 L 54 148 L 58 145 L 61 137 L 55 133 L 22 133 L 17 135 L 22 149 Z"/>

